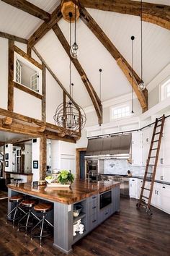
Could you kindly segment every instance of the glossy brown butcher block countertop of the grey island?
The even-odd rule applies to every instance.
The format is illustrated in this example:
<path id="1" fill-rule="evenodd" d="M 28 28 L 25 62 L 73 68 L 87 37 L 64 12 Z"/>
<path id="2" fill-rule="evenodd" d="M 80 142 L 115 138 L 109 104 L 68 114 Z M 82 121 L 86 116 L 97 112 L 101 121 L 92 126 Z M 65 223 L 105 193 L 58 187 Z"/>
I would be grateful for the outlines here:
<path id="1" fill-rule="evenodd" d="M 56 188 L 38 186 L 37 182 L 9 184 L 7 187 L 26 195 L 42 197 L 45 200 L 61 202 L 63 204 L 73 204 L 87 197 L 105 192 L 113 187 L 120 186 L 120 182 L 88 182 L 76 179 L 69 188 Z"/>

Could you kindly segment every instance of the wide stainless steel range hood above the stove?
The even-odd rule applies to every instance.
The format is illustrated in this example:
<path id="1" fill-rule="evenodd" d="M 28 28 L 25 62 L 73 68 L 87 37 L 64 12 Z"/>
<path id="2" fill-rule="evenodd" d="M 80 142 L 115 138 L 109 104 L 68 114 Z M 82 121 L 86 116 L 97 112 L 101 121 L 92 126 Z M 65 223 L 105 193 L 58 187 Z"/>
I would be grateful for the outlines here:
<path id="1" fill-rule="evenodd" d="M 105 156 L 114 158 L 128 158 L 130 153 L 131 139 L 131 134 L 89 139 L 86 157 Z"/>

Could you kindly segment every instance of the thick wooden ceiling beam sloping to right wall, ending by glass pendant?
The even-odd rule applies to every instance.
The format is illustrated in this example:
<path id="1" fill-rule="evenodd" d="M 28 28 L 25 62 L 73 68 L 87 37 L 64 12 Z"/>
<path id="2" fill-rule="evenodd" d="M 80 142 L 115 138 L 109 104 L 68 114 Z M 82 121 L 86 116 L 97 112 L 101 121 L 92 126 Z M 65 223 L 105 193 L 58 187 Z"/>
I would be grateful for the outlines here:
<path id="1" fill-rule="evenodd" d="M 114 46 L 111 40 L 107 37 L 107 35 L 104 33 L 101 27 L 95 22 L 95 20 L 91 17 L 89 12 L 86 11 L 86 9 L 81 8 L 80 10 L 80 17 L 81 20 L 86 24 L 87 27 L 96 35 L 96 37 L 99 39 L 99 41 L 103 44 L 103 46 L 109 51 L 109 54 L 112 55 L 112 57 L 117 61 L 117 64 L 119 65 L 120 69 L 122 69 L 122 72 L 124 72 L 125 76 L 128 78 L 128 81 L 131 85 L 132 80 L 132 67 L 130 67 L 130 64 L 128 64 L 128 61 L 125 60 L 125 58 L 120 54 L 120 52 L 117 50 L 117 48 Z M 133 84 L 133 89 L 135 90 L 136 95 L 138 96 L 138 100 L 140 101 L 140 105 L 143 109 L 148 108 L 146 95 L 143 92 L 139 92 L 138 90 L 138 84 L 140 83 L 140 77 L 138 77 L 138 74 L 135 73 L 133 70 L 133 76 L 135 77 L 135 82 Z M 147 91 L 147 90 L 146 90 Z"/>

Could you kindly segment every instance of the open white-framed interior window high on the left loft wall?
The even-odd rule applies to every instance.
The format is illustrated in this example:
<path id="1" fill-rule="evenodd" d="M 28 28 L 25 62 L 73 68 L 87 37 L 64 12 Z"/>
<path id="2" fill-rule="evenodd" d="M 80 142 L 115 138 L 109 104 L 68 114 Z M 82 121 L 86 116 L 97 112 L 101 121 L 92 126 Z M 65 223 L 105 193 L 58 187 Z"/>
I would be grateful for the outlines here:
<path id="1" fill-rule="evenodd" d="M 14 81 L 42 93 L 42 70 L 17 53 L 14 54 Z"/>

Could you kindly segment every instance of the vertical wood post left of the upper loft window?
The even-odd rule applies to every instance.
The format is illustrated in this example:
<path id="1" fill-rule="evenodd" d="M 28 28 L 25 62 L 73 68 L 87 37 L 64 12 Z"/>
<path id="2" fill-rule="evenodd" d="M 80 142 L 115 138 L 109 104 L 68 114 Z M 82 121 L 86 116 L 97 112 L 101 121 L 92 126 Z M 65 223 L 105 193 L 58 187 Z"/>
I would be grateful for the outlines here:
<path id="1" fill-rule="evenodd" d="M 8 51 L 8 110 L 14 109 L 14 40 L 9 39 Z"/>

